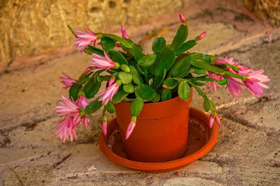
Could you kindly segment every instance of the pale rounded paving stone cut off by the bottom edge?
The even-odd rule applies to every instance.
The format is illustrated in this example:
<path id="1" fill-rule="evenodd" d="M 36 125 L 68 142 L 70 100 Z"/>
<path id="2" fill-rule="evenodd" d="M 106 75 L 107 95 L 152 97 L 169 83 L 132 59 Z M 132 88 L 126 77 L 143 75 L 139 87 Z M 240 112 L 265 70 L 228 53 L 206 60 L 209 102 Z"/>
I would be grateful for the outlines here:
<path id="1" fill-rule="evenodd" d="M 199 185 L 199 186 L 216 186 L 216 185 L 223 185 L 220 183 L 216 183 L 212 180 L 206 180 L 202 178 L 172 178 L 170 180 L 167 180 L 164 186 L 193 186 L 193 185 Z"/>

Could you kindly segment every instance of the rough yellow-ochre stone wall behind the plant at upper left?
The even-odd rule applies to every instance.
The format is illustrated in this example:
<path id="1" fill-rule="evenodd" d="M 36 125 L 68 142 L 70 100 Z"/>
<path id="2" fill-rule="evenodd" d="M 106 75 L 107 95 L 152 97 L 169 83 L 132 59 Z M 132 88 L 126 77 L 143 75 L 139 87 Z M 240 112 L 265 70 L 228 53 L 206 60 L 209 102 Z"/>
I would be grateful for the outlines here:
<path id="1" fill-rule="evenodd" d="M 1 1 L 0 69 L 19 57 L 71 45 L 67 24 L 99 32 L 109 24 L 137 25 L 182 7 L 181 0 Z"/>

